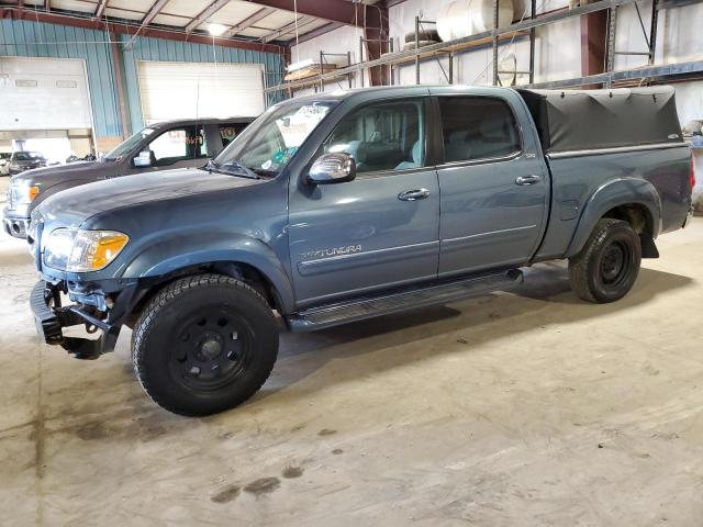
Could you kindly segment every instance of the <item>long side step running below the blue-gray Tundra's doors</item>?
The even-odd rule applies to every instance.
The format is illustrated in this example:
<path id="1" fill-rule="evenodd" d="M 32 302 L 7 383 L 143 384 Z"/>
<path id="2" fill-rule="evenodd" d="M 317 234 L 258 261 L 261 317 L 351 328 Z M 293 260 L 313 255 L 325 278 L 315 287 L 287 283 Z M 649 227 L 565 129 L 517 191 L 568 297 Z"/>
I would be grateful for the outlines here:
<path id="1" fill-rule="evenodd" d="M 291 314 L 287 317 L 287 322 L 293 332 L 313 332 L 379 315 L 478 296 L 509 285 L 516 285 L 522 281 L 523 272 L 520 269 L 511 269 L 500 273 L 400 291 L 384 296 L 355 299 L 349 302 L 313 307 Z"/>

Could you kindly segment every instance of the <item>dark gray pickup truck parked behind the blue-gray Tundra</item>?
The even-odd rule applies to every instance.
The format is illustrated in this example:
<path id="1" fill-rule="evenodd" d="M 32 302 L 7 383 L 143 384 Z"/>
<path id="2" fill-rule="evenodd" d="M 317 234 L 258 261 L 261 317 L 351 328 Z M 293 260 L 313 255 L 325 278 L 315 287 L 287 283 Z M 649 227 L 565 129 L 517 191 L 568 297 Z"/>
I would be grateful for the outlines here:
<path id="1" fill-rule="evenodd" d="M 100 160 L 48 168 L 37 168 L 46 167 L 46 160 L 41 164 L 30 159 L 13 170 L 18 154 L 31 154 L 14 153 L 10 173 L 16 176 L 8 189 L 4 231 L 15 238 L 26 237 L 32 211 L 49 195 L 79 184 L 131 173 L 200 167 L 222 152 L 252 121 L 250 117 L 165 121 L 141 130 Z"/>

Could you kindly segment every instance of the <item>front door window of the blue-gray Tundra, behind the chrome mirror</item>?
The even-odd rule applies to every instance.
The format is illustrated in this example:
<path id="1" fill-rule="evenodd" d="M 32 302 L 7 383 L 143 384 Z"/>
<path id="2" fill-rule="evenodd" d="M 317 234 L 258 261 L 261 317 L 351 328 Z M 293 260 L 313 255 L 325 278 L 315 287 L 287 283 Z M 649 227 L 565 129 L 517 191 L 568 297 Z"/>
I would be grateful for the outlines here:
<path id="1" fill-rule="evenodd" d="M 358 173 L 422 167 L 425 162 L 423 110 L 421 100 L 406 100 L 353 111 L 327 137 L 321 154 L 349 154 Z"/>

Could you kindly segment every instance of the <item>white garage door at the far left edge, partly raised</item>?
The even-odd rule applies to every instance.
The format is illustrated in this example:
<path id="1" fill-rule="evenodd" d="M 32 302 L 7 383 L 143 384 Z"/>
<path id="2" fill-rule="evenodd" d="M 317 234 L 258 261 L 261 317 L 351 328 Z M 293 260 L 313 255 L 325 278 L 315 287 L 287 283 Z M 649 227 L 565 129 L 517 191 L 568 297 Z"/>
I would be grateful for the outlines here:
<path id="1" fill-rule="evenodd" d="M 81 59 L 0 57 L 0 130 L 92 128 Z"/>

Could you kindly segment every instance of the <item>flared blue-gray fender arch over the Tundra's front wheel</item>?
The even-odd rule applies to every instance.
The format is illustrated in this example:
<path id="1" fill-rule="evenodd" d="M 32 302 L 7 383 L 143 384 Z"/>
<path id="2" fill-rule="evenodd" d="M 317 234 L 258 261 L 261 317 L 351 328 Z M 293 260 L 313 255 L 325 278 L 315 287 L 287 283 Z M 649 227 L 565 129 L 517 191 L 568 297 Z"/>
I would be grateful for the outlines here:
<path id="1" fill-rule="evenodd" d="M 294 295 L 290 279 L 276 253 L 260 239 L 231 232 L 179 232 L 165 239 L 161 235 L 156 243 L 142 248 L 123 266 L 121 278 L 159 277 L 199 264 L 246 264 L 274 285 L 283 311 L 293 311 Z"/>

